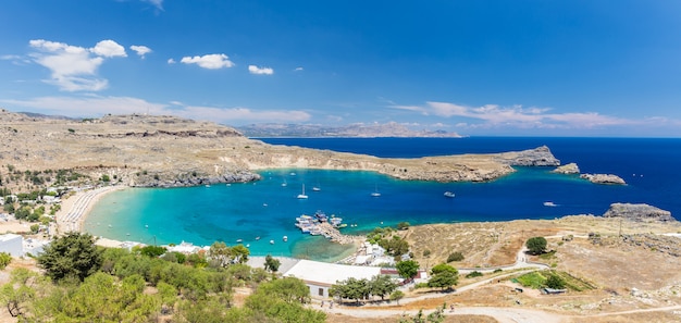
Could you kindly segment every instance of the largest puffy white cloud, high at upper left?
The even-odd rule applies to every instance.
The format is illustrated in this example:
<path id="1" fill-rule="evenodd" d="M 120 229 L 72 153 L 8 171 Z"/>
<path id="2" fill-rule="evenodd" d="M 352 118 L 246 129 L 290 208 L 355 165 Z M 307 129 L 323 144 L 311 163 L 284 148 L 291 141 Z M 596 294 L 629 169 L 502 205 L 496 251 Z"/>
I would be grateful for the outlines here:
<path id="1" fill-rule="evenodd" d="M 108 80 L 95 76 L 97 69 L 106 58 L 126 57 L 125 49 L 113 40 L 99 41 L 89 49 L 45 39 L 34 39 L 28 45 L 38 50 L 29 54 L 34 61 L 51 72 L 46 82 L 65 91 L 107 88 Z"/>

